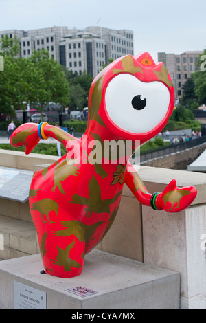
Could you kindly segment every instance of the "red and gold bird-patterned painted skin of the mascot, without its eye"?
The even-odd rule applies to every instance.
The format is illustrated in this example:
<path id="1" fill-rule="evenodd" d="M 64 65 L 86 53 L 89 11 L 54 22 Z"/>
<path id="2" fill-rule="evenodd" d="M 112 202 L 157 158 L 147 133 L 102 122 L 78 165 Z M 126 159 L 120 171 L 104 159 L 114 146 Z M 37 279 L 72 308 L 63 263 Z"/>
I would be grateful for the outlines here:
<path id="1" fill-rule="evenodd" d="M 119 74 L 130 74 L 144 84 L 161 82 L 168 89 L 170 102 L 165 116 L 147 133 L 125 131 L 108 117 L 106 89 Z M 113 104 L 115 107 L 115 100 Z M 62 278 L 81 274 L 84 255 L 104 238 L 115 221 L 124 183 L 140 203 L 150 206 L 152 194 L 146 190 L 128 159 L 122 163 L 117 155 L 115 164 L 110 157 L 106 164 L 90 163 L 89 159 L 98 154 L 95 145 L 97 141 L 103 144 L 105 140 L 113 140 L 114 143 L 118 140 L 130 140 L 135 151 L 139 145 L 157 135 L 173 111 L 172 80 L 163 63 L 155 63 L 148 53 L 135 57 L 123 56 L 108 65 L 93 80 L 88 107 L 87 130 L 81 140 L 55 126 L 44 125 L 45 136 L 60 141 L 67 149 L 67 154 L 47 168 L 36 171 L 30 186 L 30 211 L 38 234 L 45 271 Z M 154 113 L 158 113 L 158 104 L 154 109 Z M 94 142 L 88 151 L 83 148 L 85 137 L 88 144 Z M 25 145 L 25 153 L 29 154 L 39 140 L 38 124 L 27 123 L 12 133 L 10 143 L 15 147 Z M 71 152 L 69 143 L 73 142 L 80 146 L 79 164 L 71 164 L 71 157 L 68 157 Z M 99 152 L 103 159 L 102 148 Z M 195 197 L 195 188 L 177 188 L 176 182 L 172 181 L 163 193 L 158 194 L 156 205 L 159 210 L 178 212 L 189 206 Z"/>

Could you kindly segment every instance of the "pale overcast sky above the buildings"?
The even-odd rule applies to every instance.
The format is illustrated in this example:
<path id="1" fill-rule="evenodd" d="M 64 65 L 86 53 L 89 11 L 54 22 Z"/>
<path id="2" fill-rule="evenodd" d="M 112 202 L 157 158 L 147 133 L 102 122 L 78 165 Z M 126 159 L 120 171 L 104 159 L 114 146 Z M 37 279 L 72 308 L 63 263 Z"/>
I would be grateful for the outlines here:
<path id="1" fill-rule="evenodd" d="M 100 26 L 134 32 L 134 54 L 206 48 L 205 0 L 0 0 L 0 30 Z"/>

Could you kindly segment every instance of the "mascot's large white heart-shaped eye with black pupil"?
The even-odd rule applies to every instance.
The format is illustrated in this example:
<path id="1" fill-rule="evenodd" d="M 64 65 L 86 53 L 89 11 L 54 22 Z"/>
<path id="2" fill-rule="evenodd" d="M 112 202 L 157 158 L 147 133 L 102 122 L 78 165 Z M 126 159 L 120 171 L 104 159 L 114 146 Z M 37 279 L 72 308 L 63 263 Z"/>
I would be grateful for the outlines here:
<path id="1" fill-rule="evenodd" d="M 147 133 L 165 117 L 170 93 L 161 82 L 141 82 L 133 75 L 119 74 L 108 83 L 105 103 L 108 116 L 121 129 Z"/>

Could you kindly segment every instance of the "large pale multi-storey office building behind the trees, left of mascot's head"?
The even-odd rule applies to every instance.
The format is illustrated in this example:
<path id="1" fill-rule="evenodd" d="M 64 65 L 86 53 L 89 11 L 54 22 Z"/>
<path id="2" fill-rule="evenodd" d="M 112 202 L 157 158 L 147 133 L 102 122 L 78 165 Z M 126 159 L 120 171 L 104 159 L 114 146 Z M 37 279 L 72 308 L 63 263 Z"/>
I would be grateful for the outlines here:
<path id="1" fill-rule="evenodd" d="M 67 27 L 49 27 L 36 30 L 0 31 L 0 36 L 19 38 L 19 56 L 28 58 L 34 49 L 47 49 L 67 69 L 95 77 L 109 58 L 133 55 L 133 32 L 111 30 L 104 27 L 87 27 L 86 30 L 69 30 Z"/>

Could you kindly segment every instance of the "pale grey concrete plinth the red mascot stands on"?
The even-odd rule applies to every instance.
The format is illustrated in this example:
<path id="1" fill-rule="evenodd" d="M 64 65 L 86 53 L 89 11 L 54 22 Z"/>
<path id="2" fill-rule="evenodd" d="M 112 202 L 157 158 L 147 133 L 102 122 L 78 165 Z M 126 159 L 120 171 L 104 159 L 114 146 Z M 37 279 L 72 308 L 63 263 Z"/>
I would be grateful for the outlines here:
<path id="1" fill-rule="evenodd" d="M 179 309 L 180 274 L 136 260 L 93 250 L 82 274 L 56 278 L 40 274 L 41 255 L 1 261 L 0 309 L 14 309 L 14 281 L 47 294 L 47 309 Z M 82 286 L 82 298 L 67 289 Z"/>

